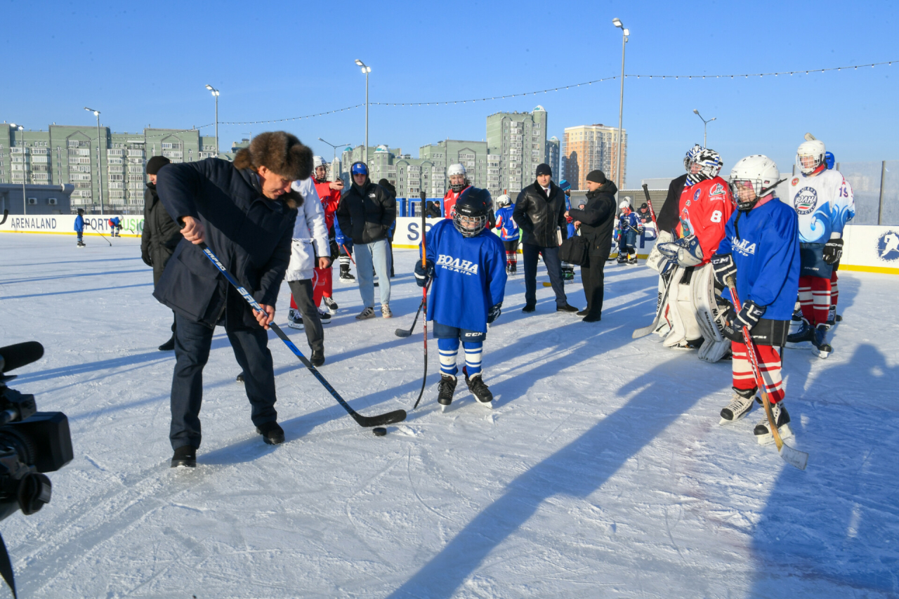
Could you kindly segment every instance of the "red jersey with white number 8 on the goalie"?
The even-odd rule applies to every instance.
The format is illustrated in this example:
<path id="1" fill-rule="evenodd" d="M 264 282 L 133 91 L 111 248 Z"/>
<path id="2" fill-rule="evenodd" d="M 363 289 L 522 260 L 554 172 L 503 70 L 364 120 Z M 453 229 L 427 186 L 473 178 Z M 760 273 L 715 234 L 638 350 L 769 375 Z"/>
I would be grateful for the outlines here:
<path id="1" fill-rule="evenodd" d="M 707 264 L 725 237 L 725 225 L 734 213 L 734 195 L 721 177 L 684 187 L 679 205 L 680 237 L 695 235 L 702 248 L 702 264 Z"/>

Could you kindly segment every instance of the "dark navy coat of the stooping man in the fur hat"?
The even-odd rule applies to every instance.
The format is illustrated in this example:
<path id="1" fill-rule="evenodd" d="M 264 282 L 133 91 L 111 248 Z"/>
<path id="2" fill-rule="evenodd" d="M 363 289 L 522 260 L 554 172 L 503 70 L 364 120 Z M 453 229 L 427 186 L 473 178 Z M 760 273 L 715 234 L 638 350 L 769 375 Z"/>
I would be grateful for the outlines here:
<path id="1" fill-rule="evenodd" d="M 258 302 L 274 306 L 290 261 L 297 192 L 278 200 L 263 196 L 259 177 L 242 150 L 234 163 L 220 158 L 165 165 L 156 189 L 173 219 L 191 216 L 206 228 L 206 244 Z M 186 239 L 153 295 L 176 313 L 213 327 L 225 317 L 232 328 L 259 326 L 253 310 L 224 276 Z"/>

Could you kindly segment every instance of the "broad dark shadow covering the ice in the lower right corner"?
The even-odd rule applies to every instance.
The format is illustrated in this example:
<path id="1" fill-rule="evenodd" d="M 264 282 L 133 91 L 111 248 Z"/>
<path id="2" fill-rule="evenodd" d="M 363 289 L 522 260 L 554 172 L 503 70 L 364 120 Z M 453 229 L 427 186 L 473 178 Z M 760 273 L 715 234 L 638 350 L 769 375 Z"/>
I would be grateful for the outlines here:
<path id="1" fill-rule="evenodd" d="M 863 344 L 799 398 L 807 424 L 792 443 L 808 468 L 779 473 L 756 526 L 749 596 L 899 595 L 897 386 L 899 367 Z"/>

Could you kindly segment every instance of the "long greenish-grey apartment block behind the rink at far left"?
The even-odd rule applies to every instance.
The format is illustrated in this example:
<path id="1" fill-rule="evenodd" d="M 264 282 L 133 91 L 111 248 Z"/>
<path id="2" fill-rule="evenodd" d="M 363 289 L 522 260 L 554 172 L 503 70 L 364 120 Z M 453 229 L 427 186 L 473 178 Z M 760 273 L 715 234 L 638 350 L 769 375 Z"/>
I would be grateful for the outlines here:
<path id="1" fill-rule="evenodd" d="M 0 126 L 0 183 L 71 183 L 72 208 L 143 210 L 145 165 L 152 156 L 192 162 L 216 156 L 215 137 L 199 130 L 117 133 L 96 126 L 50 125 L 19 131 Z M 98 151 L 99 146 L 99 151 Z M 7 175 L 8 173 L 8 175 Z"/>

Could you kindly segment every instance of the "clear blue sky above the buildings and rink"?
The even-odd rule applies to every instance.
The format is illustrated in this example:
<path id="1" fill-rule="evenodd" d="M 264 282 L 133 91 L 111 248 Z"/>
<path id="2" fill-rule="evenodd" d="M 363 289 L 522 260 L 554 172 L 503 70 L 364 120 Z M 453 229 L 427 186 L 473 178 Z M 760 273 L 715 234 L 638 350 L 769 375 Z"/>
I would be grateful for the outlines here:
<path id="1" fill-rule="evenodd" d="M 358 8 L 352 8 L 352 6 Z M 628 74 L 783 71 L 899 60 L 890 2 L 11 2 L 0 0 L 4 93 L 0 121 L 46 129 L 92 124 L 115 131 L 189 128 L 214 120 L 204 84 L 221 90 L 221 121 L 306 115 L 362 103 L 442 101 L 521 93 L 614 76 L 619 17 L 631 31 Z M 24 66 L 22 70 L 20 67 Z M 806 131 L 841 161 L 899 158 L 899 62 L 892 67 L 750 79 L 628 78 L 628 180 L 675 176 L 702 143 L 725 160 L 767 154 L 788 170 Z M 617 125 L 619 82 L 510 100 L 370 110 L 369 142 L 417 156 L 423 144 L 484 139 L 499 111 L 549 113 L 566 126 Z M 362 143 L 356 109 L 275 125 L 222 125 L 220 144 L 285 129 L 317 141 Z M 213 128 L 203 130 L 212 134 Z M 556 177 L 557 178 L 557 177 Z"/>

